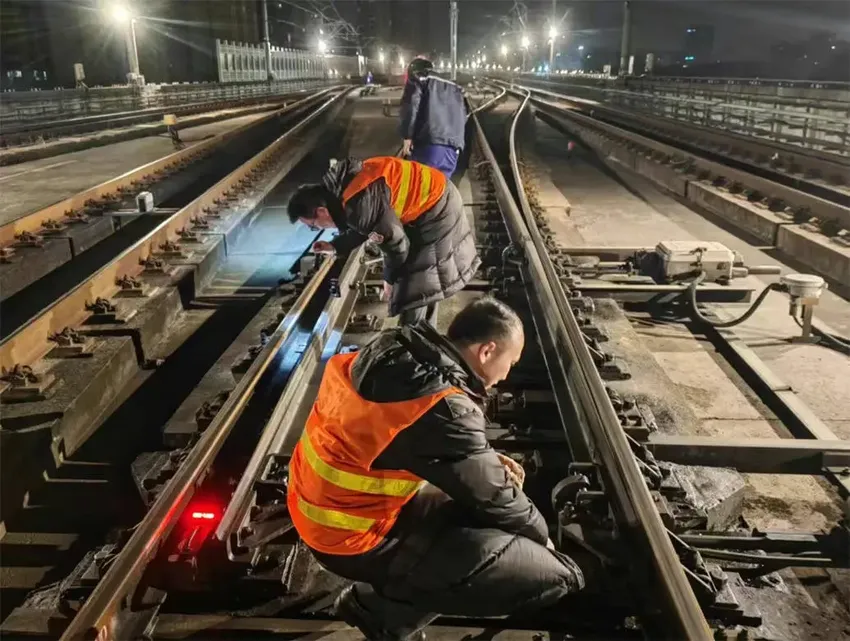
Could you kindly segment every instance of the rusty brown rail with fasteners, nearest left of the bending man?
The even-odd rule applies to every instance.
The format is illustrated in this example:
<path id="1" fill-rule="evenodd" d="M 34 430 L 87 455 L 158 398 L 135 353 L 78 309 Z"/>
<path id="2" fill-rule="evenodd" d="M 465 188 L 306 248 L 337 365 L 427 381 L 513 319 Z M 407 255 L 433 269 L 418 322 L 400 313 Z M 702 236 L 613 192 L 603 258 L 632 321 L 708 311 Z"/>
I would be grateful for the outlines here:
<path id="1" fill-rule="evenodd" d="M 201 196 L 163 221 L 131 247 L 125 249 L 109 264 L 103 266 L 91 277 L 67 292 L 62 298 L 54 301 L 16 332 L 9 335 L 0 343 L 0 366 L 11 369 L 16 364 L 32 365 L 44 356 L 52 347 L 49 340 L 51 335 L 62 331 L 65 327 L 75 327 L 85 320 L 88 316 L 85 309 L 86 302 L 93 302 L 98 298 L 111 298 L 120 289 L 117 284 L 119 278 L 124 275 L 136 276 L 140 274 L 144 269 L 144 261 L 154 256 L 164 243 L 172 242 L 173 239 L 177 238 L 178 231 L 188 227 L 192 218 L 202 216 L 205 209 L 214 207 L 216 200 L 224 197 L 230 189 L 248 177 L 264 161 L 273 158 L 283 149 L 284 145 L 322 116 L 347 93 L 348 91 L 340 91 L 336 96 L 329 98 L 318 109 L 282 134 L 259 154 L 221 179 Z M 268 188 L 271 189 L 271 186 Z"/>

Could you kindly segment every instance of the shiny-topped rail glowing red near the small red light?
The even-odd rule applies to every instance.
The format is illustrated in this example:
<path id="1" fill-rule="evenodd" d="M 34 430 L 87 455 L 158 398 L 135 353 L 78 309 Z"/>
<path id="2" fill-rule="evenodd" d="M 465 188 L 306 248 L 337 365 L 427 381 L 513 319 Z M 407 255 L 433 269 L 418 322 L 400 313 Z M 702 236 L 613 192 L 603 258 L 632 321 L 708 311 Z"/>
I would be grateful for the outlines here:
<path id="1" fill-rule="evenodd" d="M 157 497 L 144 520 L 136 527 L 129 541 L 110 564 L 106 574 L 71 620 L 60 641 L 84 641 L 93 635 L 103 639 L 116 638 L 114 635 L 116 617 L 136 589 L 147 563 L 154 557 L 159 546 L 168 537 L 185 510 L 194 494 L 194 489 L 203 481 L 233 426 L 242 415 L 260 378 L 292 336 L 298 319 L 325 281 L 335 262 L 335 258 L 326 259 L 313 274 L 295 305 L 269 337 L 268 342 L 239 380 L 209 427 Z"/>

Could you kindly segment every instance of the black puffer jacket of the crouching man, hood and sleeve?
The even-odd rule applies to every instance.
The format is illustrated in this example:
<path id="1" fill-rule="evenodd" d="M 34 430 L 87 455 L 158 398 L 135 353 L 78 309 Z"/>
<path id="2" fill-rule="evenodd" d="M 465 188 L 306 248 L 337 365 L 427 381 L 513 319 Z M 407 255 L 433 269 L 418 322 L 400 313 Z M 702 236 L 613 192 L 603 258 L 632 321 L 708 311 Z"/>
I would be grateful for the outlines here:
<path id="1" fill-rule="evenodd" d="M 436 330 L 422 322 L 382 333 L 357 356 L 352 380 L 363 398 L 378 403 L 449 386 L 462 389 L 464 394 L 447 396 L 400 432 L 374 467 L 412 472 L 462 504 L 482 526 L 546 543 L 543 516 L 508 478 L 487 442 L 481 379 Z"/>

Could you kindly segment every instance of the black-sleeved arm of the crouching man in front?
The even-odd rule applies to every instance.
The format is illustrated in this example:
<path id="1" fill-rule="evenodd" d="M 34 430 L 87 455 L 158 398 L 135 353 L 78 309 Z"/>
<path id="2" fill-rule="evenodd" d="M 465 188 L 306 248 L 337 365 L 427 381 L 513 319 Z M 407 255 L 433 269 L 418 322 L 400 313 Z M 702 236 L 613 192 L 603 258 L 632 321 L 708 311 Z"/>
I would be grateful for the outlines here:
<path id="1" fill-rule="evenodd" d="M 449 396 L 396 436 L 376 463 L 425 479 L 484 525 L 545 545 L 543 515 L 511 480 L 485 426 L 484 414 L 468 398 Z"/>

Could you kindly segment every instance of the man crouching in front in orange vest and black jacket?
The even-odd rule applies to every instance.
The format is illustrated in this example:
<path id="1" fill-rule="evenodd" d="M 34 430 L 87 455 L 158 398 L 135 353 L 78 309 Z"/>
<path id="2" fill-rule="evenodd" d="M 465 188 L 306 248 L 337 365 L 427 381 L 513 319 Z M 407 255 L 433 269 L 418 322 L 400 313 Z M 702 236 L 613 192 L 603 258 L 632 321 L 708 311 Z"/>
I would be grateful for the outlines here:
<path id="1" fill-rule="evenodd" d="M 523 343 L 516 313 L 482 298 L 446 336 L 400 327 L 328 361 L 288 507 L 318 562 L 355 581 L 337 615 L 367 639 L 407 639 L 438 614 L 525 614 L 584 586 L 523 493 L 522 468 L 485 436 L 487 388 Z"/>

